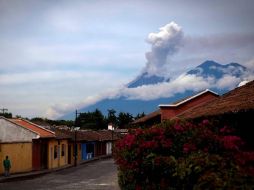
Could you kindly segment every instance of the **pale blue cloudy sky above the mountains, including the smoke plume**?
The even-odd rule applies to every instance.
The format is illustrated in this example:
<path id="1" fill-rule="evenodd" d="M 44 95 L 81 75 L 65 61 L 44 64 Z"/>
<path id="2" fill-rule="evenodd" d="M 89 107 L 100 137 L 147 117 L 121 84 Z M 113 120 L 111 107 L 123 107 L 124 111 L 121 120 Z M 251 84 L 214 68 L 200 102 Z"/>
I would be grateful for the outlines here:
<path id="1" fill-rule="evenodd" d="M 0 0 L 0 108 L 54 119 L 144 71 L 253 69 L 253 18 L 253 0 Z"/>

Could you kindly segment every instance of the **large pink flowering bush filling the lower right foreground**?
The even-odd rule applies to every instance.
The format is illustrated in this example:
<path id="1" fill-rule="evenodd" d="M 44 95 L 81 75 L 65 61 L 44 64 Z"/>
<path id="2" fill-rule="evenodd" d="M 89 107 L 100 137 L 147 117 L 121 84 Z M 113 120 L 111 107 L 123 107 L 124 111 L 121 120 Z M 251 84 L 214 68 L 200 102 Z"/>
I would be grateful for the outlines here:
<path id="1" fill-rule="evenodd" d="M 114 148 L 122 189 L 251 189 L 254 151 L 234 130 L 166 122 L 130 131 Z"/>

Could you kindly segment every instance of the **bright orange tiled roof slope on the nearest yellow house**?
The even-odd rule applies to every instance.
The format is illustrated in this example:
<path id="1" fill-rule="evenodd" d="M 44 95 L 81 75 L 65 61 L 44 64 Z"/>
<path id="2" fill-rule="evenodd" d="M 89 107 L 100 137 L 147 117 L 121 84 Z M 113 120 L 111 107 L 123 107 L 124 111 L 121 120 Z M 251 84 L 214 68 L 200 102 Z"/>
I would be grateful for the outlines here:
<path id="1" fill-rule="evenodd" d="M 31 123 L 27 120 L 24 119 L 10 119 L 10 121 L 12 121 L 13 123 L 24 127 L 30 131 L 33 131 L 34 133 L 38 134 L 40 136 L 40 138 L 51 138 L 51 137 L 55 137 L 54 132 L 47 130 L 43 127 L 40 127 L 39 125 L 36 125 L 34 123 Z"/>

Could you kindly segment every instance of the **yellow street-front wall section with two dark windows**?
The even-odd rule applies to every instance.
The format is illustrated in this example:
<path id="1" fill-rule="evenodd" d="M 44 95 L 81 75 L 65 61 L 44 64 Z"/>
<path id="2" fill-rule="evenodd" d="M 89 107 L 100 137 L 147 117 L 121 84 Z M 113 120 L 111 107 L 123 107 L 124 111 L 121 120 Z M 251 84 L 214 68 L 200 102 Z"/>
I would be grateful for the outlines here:
<path id="1" fill-rule="evenodd" d="M 64 145 L 64 155 L 62 155 Z M 57 156 L 55 157 L 55 147 Z M 68 141 L 52 139 L 48 143 L 48 168 L 57 168 L 68 164 Z"/>

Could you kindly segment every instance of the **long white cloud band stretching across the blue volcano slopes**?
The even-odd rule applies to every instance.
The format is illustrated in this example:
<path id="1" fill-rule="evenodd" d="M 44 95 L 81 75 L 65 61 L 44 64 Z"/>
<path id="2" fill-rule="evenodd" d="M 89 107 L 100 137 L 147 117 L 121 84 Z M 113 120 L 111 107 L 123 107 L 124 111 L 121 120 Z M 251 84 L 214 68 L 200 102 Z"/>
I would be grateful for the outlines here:
<path id="1" fill-rule="evenodd" d="M 232 68 L 229 68 L 229 70 L 232 70 Z M 130 100 L 154 100 L 157 98 L 173 97 L 177 93 L 184 93 L 187 90 L 194 92 L 211 88 L 231 90 L 245 78 L 237 78 L 230 74 L 225 74 L 222 78 L 216 80 L 214 77 L 203 78 L 197 75 L 182 74 L 170 82 L 143 85 L 137 88 L 127 88 L 125 86 L 118 89 L 115 88 L 116 90 L 113 91 L 107 91 L 97 96 L 90 96 L 74 106 L 58 104 L 48 110 L 48 116 L 59 117 L 70 112 L 70 110 L 87 107 L 105 98 L 124 97 Z"/>

